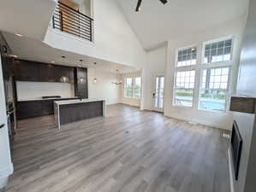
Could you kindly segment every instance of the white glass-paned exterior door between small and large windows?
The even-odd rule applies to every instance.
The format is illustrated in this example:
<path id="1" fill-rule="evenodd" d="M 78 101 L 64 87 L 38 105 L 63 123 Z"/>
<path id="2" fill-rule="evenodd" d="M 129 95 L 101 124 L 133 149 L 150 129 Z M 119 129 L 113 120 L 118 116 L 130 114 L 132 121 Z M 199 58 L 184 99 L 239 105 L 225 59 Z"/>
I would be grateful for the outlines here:
<path id="1" fill-rule="evenodd" d="M 153 110 L 158 112 L 164 111 L 164 75 L 158 75 L 155 80 Z"/>

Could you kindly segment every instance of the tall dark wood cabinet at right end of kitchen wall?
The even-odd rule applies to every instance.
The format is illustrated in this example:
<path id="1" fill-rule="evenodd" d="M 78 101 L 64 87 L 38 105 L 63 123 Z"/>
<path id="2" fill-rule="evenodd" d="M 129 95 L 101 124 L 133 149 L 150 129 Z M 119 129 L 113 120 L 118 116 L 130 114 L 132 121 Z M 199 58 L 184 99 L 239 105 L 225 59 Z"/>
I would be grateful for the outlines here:
<path id="1" fill-rule="evenodd" d="M 74 96 L 79 96 L 83 99 L 88 98 L 87 68 L 76 67 L 74 69 L 74 79 Z"/>

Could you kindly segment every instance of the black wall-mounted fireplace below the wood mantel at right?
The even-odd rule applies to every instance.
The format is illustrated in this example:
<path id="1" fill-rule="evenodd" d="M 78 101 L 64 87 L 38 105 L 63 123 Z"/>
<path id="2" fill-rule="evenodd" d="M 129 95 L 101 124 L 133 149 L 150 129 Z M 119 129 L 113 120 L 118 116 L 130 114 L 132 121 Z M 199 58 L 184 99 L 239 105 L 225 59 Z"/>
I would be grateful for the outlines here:
<path id="1" fill-rule="evenodd" d="M 239 173 L 239 165 L 240 165 L 240 159 L 241 159 L 241 135 L 238 129 L 238 126 L 236 122 L 233 122 L 233 129 L 231 134 L 231 154 L 232 154 L 232 160 L 233 160 L 233 167 L 235 172 L 235 180 L 238 179 L 238 173 Z"/>

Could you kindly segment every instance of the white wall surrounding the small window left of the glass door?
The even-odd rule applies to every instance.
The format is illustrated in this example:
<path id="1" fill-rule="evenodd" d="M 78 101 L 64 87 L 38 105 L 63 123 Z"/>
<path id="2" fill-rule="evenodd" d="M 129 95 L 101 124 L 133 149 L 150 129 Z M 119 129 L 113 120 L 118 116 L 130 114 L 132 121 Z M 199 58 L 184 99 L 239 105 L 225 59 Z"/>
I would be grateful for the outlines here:
<path id="1" fill-rule="evenodd" d="M 141 73 L 140 72 L 138 72 L 138 73 L 124 73 L 124 74 L 120 75 L 119 80 L 122 81 L 122 85 L 120 86 L 120 92 L 119 92 L 120 102 L 122 104 L 126 104 L 126 105 L 130 105 L 130 106 L 140 108 L 141 99 L 128 98 L 128 97 L 124 96 L 124 79 L 134 78 L 134 77 L 141 77 Z M 143 82 L 142 82 L 142 86 L 143 86 Z"/>

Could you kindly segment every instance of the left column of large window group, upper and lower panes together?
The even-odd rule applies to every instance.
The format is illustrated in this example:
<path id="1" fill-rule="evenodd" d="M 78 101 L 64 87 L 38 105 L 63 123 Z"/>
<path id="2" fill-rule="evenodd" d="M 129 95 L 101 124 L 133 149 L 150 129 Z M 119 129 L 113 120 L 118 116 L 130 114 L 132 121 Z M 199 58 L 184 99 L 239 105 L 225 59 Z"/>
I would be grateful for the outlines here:
<path id="1" fill-rule="evenodd" d="M 195 64 L 196 47 L 178 50 L 173 100 L 176 106 L 193 106 Z"/>

